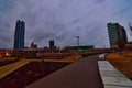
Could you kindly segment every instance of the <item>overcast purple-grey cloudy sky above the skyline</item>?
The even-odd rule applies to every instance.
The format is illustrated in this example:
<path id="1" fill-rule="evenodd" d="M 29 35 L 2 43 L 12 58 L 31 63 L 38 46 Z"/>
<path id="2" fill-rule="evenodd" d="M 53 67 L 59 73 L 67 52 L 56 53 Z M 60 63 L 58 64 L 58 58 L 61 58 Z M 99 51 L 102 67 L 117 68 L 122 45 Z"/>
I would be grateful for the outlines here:
<path id="1" fill-rule="evenodd" d="M 0 0 L 0 47 L 12 48 L 16 20 L 25 21 L 25 46 L 77 44 L 109 47 L 107 23 L 118 22 L 132 41 L 132 0 Z"/>

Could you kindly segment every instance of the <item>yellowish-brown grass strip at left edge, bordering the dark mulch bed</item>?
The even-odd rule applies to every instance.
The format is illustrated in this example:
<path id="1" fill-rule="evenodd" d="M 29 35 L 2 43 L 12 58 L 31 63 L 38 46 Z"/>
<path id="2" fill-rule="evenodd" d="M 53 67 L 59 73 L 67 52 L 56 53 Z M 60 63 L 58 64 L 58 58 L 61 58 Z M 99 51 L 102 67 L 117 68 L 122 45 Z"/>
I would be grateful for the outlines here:
<path id="1" fill-rule="evenodd" d="M 12 64 L 0 67 L 0 78 L 6 77 L 10 73 L 19 69 L 20 67 L 24 66 L 28 63 L 30 63 L 30 62 L 21 59 L 19 62 L 15 62 L 15 63 L 12 63 Z"/>

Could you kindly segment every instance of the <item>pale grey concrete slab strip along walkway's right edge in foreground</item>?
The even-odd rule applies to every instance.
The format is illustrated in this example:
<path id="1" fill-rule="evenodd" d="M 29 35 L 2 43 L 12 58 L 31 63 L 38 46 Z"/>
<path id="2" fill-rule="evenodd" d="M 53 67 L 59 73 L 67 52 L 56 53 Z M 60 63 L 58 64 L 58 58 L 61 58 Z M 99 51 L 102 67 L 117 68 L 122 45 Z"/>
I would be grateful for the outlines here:
<path id="1" fill-rule="evenodd" d="M 132 80 L 112 66 L 108 61 L 98 61 L 105 88 L 132 88 Z"/>

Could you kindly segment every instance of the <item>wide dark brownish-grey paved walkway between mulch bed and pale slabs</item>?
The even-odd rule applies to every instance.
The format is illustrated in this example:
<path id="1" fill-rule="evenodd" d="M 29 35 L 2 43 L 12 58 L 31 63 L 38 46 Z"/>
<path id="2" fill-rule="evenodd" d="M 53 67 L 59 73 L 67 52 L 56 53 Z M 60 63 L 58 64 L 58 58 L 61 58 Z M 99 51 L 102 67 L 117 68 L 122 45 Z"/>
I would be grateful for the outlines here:
<path id="1" fill-rule="evenodd" d="M 103 88 L 98 55 L 70 64 L 26 88 Z"/>

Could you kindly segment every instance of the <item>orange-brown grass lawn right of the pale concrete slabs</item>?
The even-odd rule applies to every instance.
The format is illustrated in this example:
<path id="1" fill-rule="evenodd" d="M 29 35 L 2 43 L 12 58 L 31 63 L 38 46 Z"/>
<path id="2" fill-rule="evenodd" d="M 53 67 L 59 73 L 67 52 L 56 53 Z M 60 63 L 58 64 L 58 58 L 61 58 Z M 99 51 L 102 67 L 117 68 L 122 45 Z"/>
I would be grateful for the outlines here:
<path id="1" fill-rule="evenodd" d="M 107 55 L 107 59 L 132 80 L 132 52 L 111 53 Z"/>

